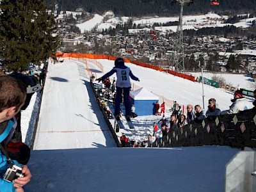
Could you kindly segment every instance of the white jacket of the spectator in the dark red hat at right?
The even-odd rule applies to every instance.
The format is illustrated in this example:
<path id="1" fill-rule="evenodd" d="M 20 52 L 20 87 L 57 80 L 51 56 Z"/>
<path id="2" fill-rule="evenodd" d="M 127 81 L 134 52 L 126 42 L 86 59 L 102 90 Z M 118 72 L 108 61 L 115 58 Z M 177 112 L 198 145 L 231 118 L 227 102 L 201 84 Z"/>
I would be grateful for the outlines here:
<path id="1" fill-rule="evenodd" d="M 221 115 L 239 113 L 239 111 L 248 109 L 249 106 L 249 102 L 244 97 L 238 98 L 234 100 L 229 110 L 221 111 Z"/>

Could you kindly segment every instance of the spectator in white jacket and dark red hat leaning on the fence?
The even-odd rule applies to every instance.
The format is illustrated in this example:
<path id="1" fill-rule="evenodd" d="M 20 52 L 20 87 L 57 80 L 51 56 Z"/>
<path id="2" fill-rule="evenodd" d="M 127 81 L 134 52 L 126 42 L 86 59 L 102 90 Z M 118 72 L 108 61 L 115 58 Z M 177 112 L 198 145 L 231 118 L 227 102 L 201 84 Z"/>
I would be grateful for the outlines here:
<path id="1" fill-rule="evenodd" d="M 231 100 L 232 105 L 226 111 L 221 111 L 221 115 L 239 113 L 248 109 L 249 103 L 243 97 L 243 90 L 236 90 L 234 93 L 234 99 Z"/>

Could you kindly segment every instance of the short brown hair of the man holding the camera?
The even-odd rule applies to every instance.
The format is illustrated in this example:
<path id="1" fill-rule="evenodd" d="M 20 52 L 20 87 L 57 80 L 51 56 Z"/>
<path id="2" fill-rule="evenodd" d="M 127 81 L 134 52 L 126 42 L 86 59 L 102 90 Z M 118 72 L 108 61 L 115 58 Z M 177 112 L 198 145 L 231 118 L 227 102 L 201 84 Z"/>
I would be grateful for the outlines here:
<path id="1" fill-rule="evenodd" d="M 11 76 L 0 76 L 0 113 L 7 108 L 22 105 L 26 97 L 26 85 Z"/>

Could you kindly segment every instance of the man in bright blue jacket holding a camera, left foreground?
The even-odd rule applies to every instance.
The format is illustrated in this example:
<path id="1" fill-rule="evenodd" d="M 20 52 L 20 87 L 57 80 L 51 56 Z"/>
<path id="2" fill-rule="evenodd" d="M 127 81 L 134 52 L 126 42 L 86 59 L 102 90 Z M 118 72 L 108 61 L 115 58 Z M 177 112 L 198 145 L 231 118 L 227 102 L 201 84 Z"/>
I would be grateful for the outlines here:
<path id="1" fill-rule="evenodd" d="M 4 154 L 6 147 L 2 145 L 7 144 L 6 139 L 12 138 L 15 130 L 14 116 L 19 113 L 26 100 L 26 85 L 14 77 L 0 76 L 0 90 L 0 191 L 24 191 L 22 187 L 28 184 L 31 178 L 28 166 L 22 166 L 17 161 L 8 161 L 8 157 Z M 7 182 L 3 180 L 3 175 L 12 163 L 22 166 L 24 177 L 18 177 L 13 182 Z"/>

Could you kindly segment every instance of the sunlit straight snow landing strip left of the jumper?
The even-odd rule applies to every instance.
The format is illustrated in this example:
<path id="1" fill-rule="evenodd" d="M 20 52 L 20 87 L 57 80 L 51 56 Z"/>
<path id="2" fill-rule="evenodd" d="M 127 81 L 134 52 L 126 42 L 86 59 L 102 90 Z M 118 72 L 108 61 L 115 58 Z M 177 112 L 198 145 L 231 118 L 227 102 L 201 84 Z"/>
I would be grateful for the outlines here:
<path id="1" fill-rule="evenodd" d="M 115 147 L 102 118 L 85 65 L 76 61 L 49 65 L 34 149 Z"/>

